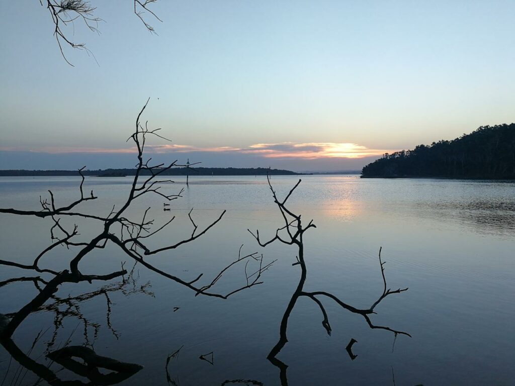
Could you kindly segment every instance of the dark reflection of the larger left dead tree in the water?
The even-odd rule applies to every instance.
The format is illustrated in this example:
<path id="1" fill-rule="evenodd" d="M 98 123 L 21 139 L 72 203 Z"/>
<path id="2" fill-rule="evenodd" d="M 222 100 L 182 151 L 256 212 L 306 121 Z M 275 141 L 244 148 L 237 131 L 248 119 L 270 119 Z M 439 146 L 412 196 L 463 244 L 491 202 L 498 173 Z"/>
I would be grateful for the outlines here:
<path id="1" fill-rule="evenodd" d="M 122 279 L 119 280 L 119 282 L 111 283 L 109 285 L 100 287 L 96 291 L 83 293 L 77 296 L 59 297 L 51 291 L 42 289 L 40 287 L 40 284 L 44 283 L 45 280 L 41 279 L 40 277 L 13 278 L 1 282 L 0 287 L 20 281 L 32 281 L 39 292 L 39 294 L 36 296 L 39 297 L 39 300 L 38 302 L 29 302 L 28 305 L 32 305 L 33 308 L 29 308 L 27 306 L 22 308 L 22 314 L 19 314 L 18 312 L 13 312 L 2 315 L 3 320 L 20 320 L 22 318 L 20 320 L 20 322 L 22 322 L 25 318 L 28 317 L 28 315 L 30 315 L 33 312 L 45 311 L 54 313 L 54 332 L 52 339 L 50 339 L 50 341 L 47 343 L 46 350 L 46 357 L 51 360 L 50 365 L 52 365 L 52 363 L 54 362 L 59 363 L 71 372 L 79 376 L 88 378 L 90 382 L 84 383 L 79 380 L 63 381 L 57 376 L 56 372 L 50 370 L 50 365 L 43 365 L 37 362 L 36 360 L 31 359 L 29 355 L 35 347 L 36 343 L 43 337 L 44 333 L 42 334 L 40 331 L 40 333 L 34 340 L 31 349 L 27 354 L 25 354 L 13 342 L 10 335 L 8 335 L 10 330 L 7 329 L 9 324 L 6 323 L 6 326 L 4 326 L 3 329 L 0 328 L 0 343 L 2 344 L 2 346 L 4 346 L 4 348 L 15 361 L 17 361 L 21 366 L 25 367 L 25 369 L 36 374 L 40 378 L 40 380 L 45 380 L 46 382 L 52 385 L 110 385 L 119 383 L 129 378 L 130 376 L 137 373 L 143 368 L 138 364 L 119 362 L 109 357 L 100 356 L 96 354 L 92 348 L 87 347 L 93 345 L 98 333 L 98 329 L 100 328 L 100 324 L 90 321 L 82 313 L 80 309 L 80 305 L 83 302 L 93 300 L 97 297 L 105 297 L 107 304 L 106 324 L 108 328 L 111 330 L 112 334 L 116 338 L 118 338 L 118 333 L 111 325 L 110 318 L 112 312 L 112 302 L 109 298 L 109 293 L 120 292 L 125 296 L 130 296 L 134 293 L 143 293 L 149 296 L 153 296 L 153 293 L 150 291 L 149 282 L 145 283 L 144 285 L 138 284 L 138 276 L 134 276 L 134 267 L 131 269 L 128 275 L 124 275 Z M 37 304 L 41 301 L 43 301 L 43 303 L 45 303 L 46 301 L 51 302 L 41 306 L 37 306 Z M 68 345 L 68 343 L 70 342 L 70 338 L 68 338 L 64 343 L 64 347 L 58 348 L 57 350 L 50 352 L 49 350 L 55 345 L 58 330 L 62 327 L 62 323 L 65 318 L 75 318 L 83 324 L 84 346 Z M 94 329 L 93 341 L 90 340 L 88 334 L 88 330 L 90 328 Z M 72 358 L 80 358 L 83 363 Z M 110 370 L 111 373 L 102 374 L 100 373 L 99 369 Z M 7 370 L 7 372 L 9 372 L 9 369 Z M 6 374 L 6 377 L 7 375 L 8 374 Z M 39 383 L 39 381 L 36 383 Z"/>

